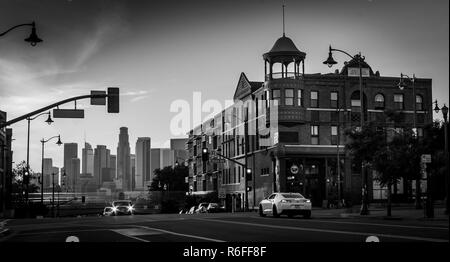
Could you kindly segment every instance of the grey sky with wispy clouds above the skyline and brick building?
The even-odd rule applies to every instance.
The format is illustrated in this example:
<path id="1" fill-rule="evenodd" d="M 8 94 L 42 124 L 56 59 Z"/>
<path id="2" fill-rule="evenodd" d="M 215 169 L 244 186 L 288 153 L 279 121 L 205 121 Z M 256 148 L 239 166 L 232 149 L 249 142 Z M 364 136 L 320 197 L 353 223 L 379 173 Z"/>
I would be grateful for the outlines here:
<path id="1" fill-rule="evenodd" d="M 170 130 L 174 101 L 194 107 L 194 92 L 200 92 L 202 102 L 225 103 L 241 72 L 263 81 L 262 54 L 282 35 L 282 4 L 286 36 L 306 52 L 306 73 L 339 68 L 322 64 L 331 44 L 361 52 L 382 76 L 431 78 L 433 101 L 449 104 L 447 0 L 2 0 L 0 33 L 35 21 L 44 41 L 35 47 L 24 42 L 26 27 L 0 37 L 0 110 L 12 119 L 90 90 L 120 88 L 119 114 L 80 100 L 84 119 L 32 121 L 35 171 L 41 168 L 39 141 L 59 134 L 79 144 L 80 158 L 85 139 L 116 154 L 121 126 L 129 128 L 132 152 L 138 137 L 168 147 L 170 138 L 183 137 Z M 341 54 L 335 59 L 338 66 L 348 60 Z M 11 127 L 18 163 L 26 159 L 26 121 Z M 45 154 L 63 165 L 63 147 L 47 143 Z"/>

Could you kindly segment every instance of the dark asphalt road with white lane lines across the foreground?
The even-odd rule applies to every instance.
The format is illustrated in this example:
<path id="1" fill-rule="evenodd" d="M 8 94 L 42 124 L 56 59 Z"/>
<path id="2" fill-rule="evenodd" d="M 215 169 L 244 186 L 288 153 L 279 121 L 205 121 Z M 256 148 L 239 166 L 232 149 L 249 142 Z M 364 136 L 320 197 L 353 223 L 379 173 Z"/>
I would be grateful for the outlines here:
<path id="1" fill-rule="evenodd" d="M 5 242 L 447 242 L 448 221 L 157 214 L 6 221 Z"/>

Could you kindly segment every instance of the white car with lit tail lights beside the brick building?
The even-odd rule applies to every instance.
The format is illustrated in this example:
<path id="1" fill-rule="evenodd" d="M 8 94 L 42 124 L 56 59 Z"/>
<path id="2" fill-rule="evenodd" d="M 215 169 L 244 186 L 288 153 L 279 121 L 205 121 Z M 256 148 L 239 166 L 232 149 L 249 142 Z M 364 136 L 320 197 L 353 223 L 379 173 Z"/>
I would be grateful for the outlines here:
<path id="1" fill-rule="evenodd" d="M 272 214 L 274 217 L 287 215 L 303 215 L 311 217 L 311 200 L 306 199 L 299 193 L 273 193 L 259 203 L 259 215 L 264 217 Z"/>

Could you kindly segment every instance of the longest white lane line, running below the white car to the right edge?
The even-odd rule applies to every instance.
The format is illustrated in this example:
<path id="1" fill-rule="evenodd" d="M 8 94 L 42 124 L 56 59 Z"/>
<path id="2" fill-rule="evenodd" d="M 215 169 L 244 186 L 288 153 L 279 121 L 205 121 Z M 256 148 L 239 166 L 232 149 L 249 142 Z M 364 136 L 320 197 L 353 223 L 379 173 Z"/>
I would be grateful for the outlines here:
<path id="1" fill-rule="evenodd" d="M 379 237 L 387 237 L 387 238 L 399 238 L 399 239 L 429 241 L 429 242 L 448 242 L 448 239 L 439 239 L 439 238 L 425 238 L 425 237 L 401 236 L 401 235 L 390 235 L 390 234 L 375 234 L 375 233 L 363 233 L 363 232 L 317 229 L 317 228 L 304 228 L 304 227 L 275 226 L 275 225 L 267 225 L 267 224 L 253 224 L 253 223 L 245 223 L 245 222 L 226 221 L 226 220 L 219 220 L 219 219 L 203 219 L 203 218 L 193 218 L 193 219 L 202 220 L 202 221 L 227 223 L 227 224 L 244 225 L 244 226 L 266 227 L 266 228 L 297 230 L 297 231 L 311 231 L 311 232 L 356 235 L 356 236 L 365 236 L 365 237 L 370 236 L 370 235 L 377 235 Z"/>

